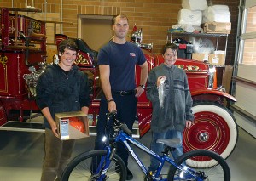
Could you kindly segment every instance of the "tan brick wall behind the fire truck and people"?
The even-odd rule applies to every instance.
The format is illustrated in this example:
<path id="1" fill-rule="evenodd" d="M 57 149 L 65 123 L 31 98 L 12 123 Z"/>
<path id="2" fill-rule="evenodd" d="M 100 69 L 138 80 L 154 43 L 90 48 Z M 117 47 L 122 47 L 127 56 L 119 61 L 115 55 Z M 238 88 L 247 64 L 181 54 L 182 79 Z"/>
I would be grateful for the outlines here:
<path id="1" fill-rule="evenodd" d="M 63 33 L 69 37 L 77 37 L 77 14 L 126 14 L 131 30 L 135 23 L 138 28 L 143 29 L 143 43 L 153 42 L 154 53 L 160 53 L 166 43 L 166 31 L 177 24 L 177 12 L 182 8 L 181 0 L 62 0 L 62 10 L 61 0 L 47 0 L 47 4 L 45 1 L 1 0 L 0 6 L 11 7 L 11 2 L 14 2 L 15 8 L 26 8 L 26 5 L 29 5 L 42 9 L 42 20 L 61 21 L 62 12 L 63 21 L 73 22 L 73 25 L 63 25 Z M 235 59 L 239 0 L 212 0 L 211 3 L 230 7 L 232 30 L 228 40 L 226 64 L 232 65 Z M 48 32 L 48 37 L 49 35 L 52 33 Z"/>

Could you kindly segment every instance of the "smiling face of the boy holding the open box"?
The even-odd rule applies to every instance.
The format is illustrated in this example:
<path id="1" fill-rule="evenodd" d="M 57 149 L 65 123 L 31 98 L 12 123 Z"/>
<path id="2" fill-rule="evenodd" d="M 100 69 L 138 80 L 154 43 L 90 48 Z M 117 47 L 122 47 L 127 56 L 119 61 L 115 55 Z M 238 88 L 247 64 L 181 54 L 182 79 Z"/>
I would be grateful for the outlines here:
<path id="1" fill-rule="evenodd" d="M 59 65 L 64 71 L 70 71 L 76 58 L 77 52 L 75 50 L 65 48 L 64 52 L 61 54 L 61 61 Z"/>

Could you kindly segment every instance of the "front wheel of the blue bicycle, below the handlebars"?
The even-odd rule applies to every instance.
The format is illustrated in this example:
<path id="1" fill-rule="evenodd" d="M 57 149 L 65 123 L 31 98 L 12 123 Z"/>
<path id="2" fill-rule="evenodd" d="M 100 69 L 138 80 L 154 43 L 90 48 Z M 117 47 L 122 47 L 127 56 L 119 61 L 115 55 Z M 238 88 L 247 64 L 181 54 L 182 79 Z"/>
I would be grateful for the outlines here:
<path id="1" fill-rule="evenodd" d="M 98 174 L 94 174 L 96 169 L 93 169 L 93 166 L 97 166 L 102 156 L 106 156 L 106 154 L 106 150 L 91 150 L 76 156 L 65 168 L 61 180 L 98 180 Z M 92 161 L 94 164 L 92 164 Z M 124 161 L 119 156 L 113 155 L 103 180 L 125 181 L 125 178 L 126 169 Z"/>

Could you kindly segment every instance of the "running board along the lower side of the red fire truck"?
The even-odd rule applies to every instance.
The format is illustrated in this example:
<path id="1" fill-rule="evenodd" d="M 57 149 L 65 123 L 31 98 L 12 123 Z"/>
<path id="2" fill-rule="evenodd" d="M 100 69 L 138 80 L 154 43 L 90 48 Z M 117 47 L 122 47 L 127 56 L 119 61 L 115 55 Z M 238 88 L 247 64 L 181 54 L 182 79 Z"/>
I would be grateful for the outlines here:
<path id="1" fill-rule="evenodd" d="M 8 121 L 0 127 L 1 130 L 19 131 L 19 132 L 36 132 L 44 133 L 44 126 L 42 122 L 15 122 Z M 89 126 L 90 136 L 96 136 L 96 126 Z M 137 127 L 132 129 L 132 137 L 139 138 L 139 130 Z"/>

